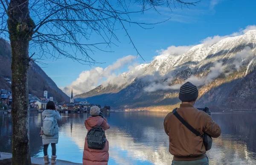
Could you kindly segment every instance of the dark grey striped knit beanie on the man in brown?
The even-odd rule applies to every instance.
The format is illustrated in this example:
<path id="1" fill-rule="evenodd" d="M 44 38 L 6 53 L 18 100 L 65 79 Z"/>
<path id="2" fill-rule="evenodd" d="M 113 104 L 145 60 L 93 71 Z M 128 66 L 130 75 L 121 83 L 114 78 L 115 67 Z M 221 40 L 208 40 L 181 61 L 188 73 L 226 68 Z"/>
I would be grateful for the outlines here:
<path id="1" fill-rule="evenodd" d="M 186 82 L 180 87 L 179 99 L 181 101 L 194 101 L 197 98 L 198 89 L 194 84 Z"/>

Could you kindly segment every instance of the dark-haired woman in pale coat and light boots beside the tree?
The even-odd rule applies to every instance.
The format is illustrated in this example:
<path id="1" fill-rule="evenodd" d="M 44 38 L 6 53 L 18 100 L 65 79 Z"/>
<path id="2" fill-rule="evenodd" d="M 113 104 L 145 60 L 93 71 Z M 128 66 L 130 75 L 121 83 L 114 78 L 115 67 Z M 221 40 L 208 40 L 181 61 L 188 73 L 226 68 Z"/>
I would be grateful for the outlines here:
<path id="1" fill-rule="evenodd" d="M 47 118 L 46 118 L 47 117 Z M 44 134 L 44 120 L 48 119 L 48 122 L 52 120 L 53 126 L 52 126 L 52 135 L 46 135 Z M 56 144 L 58 143 L 58 123 L 57 120 L 61 120 L 61 115 L 57 111 L 57 108 L 55 108 L 55 103 L 53 101 L 49 101 L 46 106 L 46 110 L 42 113 L 42 140 L 44 145 L 44 164 L 49 164 L 49 155 L 47 154 L 47 149 L 49 144 L 51 143 L 52 146 L 52 164 L 56 163 Z"/>

